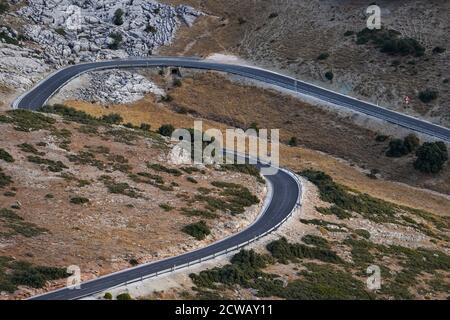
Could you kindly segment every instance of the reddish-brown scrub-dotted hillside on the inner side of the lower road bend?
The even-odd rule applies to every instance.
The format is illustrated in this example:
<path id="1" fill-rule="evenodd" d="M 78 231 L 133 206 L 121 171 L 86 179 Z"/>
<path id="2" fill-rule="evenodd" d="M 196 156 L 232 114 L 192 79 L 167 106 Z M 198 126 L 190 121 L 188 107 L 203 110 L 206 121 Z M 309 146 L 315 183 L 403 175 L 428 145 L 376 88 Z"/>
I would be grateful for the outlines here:
<path id="1" fill-rule="evenodd" d="M 147 124 L 46 111 L 0 113 L 0 300 L 65 285 L 71 265 L 87 280 L 191 251 L 259 214 L 254 167 L 175 165 Z"/>

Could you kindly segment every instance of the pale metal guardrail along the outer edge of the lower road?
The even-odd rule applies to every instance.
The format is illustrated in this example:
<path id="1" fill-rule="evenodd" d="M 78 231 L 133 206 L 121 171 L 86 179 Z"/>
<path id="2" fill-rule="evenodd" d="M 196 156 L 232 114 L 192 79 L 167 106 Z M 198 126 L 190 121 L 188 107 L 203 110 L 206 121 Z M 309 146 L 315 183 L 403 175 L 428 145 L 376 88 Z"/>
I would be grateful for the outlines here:
<path id="1" fill-rule="evenodd" d="M 155 273 L 152 273 L 152 274 L 149 274 L 149 275 L 146 275 L 146 276 L 143 276 L 143 277 L 139 277 L 139 278 L 136 278 L 134 280 L 125 281 L 123 283 L 120 283 L 120 284 L 115 285 L 113 287 L 110 287 L 108 289 L 120 288 L 120 287 L 122 287 L 124 285 L 127 286 L 127 285 L 130 285 L 130 284 L 142 282 L 142 281 L 145 281 L 145 280 L 148 280 L 148 279 L 151 279 L 151 278 L 156 278 L 156 277 L 164 275 L 164 274 L 168 274 L 168 273 L 172 273 L 172 272 L 175 272 L 175 271 L 178 271 L 178 270 L 181 270 L 181 269 L 192 267 L 194 265 L 200 264 L 202 262 L 210 261 L 210 260 L 213 260 L 213 259 L 221 257 L 221 256 L 226 256 L 226 255 L 228 255 L 230 253 L 236 252 L 236 251 L 238 251 L 238 250 L 240 250 L 240 249 L 242 249 L 244 247 L 247 247 L 248 245 L 250 245 L 250 244 L 260 240 L 261 238 L 263 238 L 263 237 L 273 233 L 274 231 L 278 230 L 278 228 L 280 228 L 287 220 L 289 220 L 294 215 L 296 210 L 298 210 L 301 207 L 302 201 L 303 201 L 302 183 L 301 183 L 300 179 L 297 177 L 297 175 L 295 175 L 294 173 L 292 173 L 291 171 L 289 171 L 287 169 L 279 168 L 279 170 L 282 170 L 283 172 L 287 173 L 289 176 L 291 176 L 297 182 L 297 185 L 298 185 L 298 188 L 299 188 L 299 194 L 298 194 L 298 197 L 297 197 L 296 204 L 295 204 L 294 208 L 292 209 L 292 211 L 283 220 L 281 220 L 278 224 L 276 224 L 274 227 L 272 227 L 269 230 L 267 230 L 267 231 L 265 231 L 265 232 L 255 236 L 254 238 L 252 238 L 252 239 L 250 239 L 250 240 L 248 240 L 246 242 L 243 242 L 241 244 L 238 244 L 238 245 L 236 245 L 236 246 L 234 246 L 232 248 L 225 249 L 223 251 L 214 253 L 214 254 L 212 254 L 210 256 L 206 256 L 204 258 L 200 258 L 200 259 L 197 259 L 195 261 L 188 262 L 188 263 L 185 263 L 185 264 L 182 264 L 182 265 L 178 265 L 178 266 L 174 265 L 171 268 L 167 268 L 167 269 L 164 269 L 162 271 L 157 271 Z M 157 261 L 155 261 L 155 262 L 157 262 Z M 98 294 L 100 292 L 104 292 L 104 291 L 105 290 L 99 290 L 99 291 L 96 291 L 96 292 L 91 292 L 91 293 L 89 293 L 87 295 L 80 296 L 77 299 L 90 297 L 90 296 L 96 295 L 96 294 Z"/>

